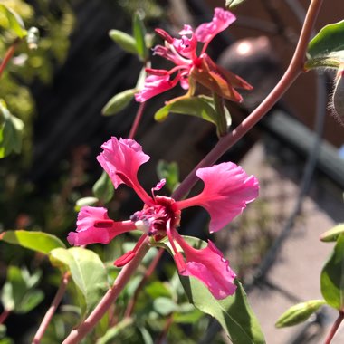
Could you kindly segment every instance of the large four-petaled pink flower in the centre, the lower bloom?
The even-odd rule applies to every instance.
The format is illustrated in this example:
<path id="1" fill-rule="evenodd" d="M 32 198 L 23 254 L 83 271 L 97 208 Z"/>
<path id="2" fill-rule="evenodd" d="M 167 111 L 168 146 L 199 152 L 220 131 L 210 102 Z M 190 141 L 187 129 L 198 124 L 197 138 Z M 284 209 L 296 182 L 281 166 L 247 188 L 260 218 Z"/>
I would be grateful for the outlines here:
<path id="1" fill-rule="evenodd" d="M 81 208 L 76 233 L 72 232 L 68 236 L 70 244 L 108 244 L 118 234 L 139 229 L 143 232 L 139 243 L 115 262 L 117 266 L 123 266 L 135 256 L 147 236 L 157 242 L 167 236 L 180 274 L 193 276 L 203 282 L 217 299 L 232 295 L 236 288 L 235 274 L 215 244 L 209 241 L 205 248 L 197 250 L 186 243 L 177 228 L 180 225 L 181 210 L 198 205 L 203 206 L 211 216 L 210 231 L 220 230 L 258 196 L 257 179 L 248 177 L 242 167 L 228 162 L 197 170 L 197 176 L 205 185 L 197 196 L 182 201 L 156 196 L 155 191 L 165 185 L 164 179 L 152 188 L 152 196 L 149 196 L 140 186 L 137 177 L 140 165 L 149 159 L 141 146 L 132 139 L 112 137 L 101 147 L 103 151 L 97 159 L 109 174 L 115 188 L 122 183 L 134 188 L 144 206 L 130 216 L 130 221 L 123 222 L 111 220 L 104 208 Z M 184 255 L 178 251 L 176 243 Z"/>

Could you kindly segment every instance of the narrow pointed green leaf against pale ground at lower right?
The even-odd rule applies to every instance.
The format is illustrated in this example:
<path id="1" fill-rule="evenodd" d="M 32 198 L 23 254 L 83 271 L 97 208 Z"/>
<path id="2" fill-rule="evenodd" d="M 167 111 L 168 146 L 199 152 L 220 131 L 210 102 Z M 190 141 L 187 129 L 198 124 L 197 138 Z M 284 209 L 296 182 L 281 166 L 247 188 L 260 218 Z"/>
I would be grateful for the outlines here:
<path id="1" fill-rule="evenodd" d="M 276 328 L 284 328 L 286 326 L 300 324 L 301 322 L 306 321 L 311 314 L 318 311 L 325 303 L 326 301 L 323 300 L 311 300 L 295 304 L 281 315 L 275 326 Z"/>

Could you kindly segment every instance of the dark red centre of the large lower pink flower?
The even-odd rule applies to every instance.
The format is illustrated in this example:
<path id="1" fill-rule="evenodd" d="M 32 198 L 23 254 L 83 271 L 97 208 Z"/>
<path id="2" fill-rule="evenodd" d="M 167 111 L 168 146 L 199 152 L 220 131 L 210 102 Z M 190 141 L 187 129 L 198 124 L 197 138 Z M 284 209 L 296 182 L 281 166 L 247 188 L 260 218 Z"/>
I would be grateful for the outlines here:
<path id="1" fill-rule="evenodd" d="M 167 221 L 171 227 L 177 227 L 180 223 L 180 210 L 177 209 L 176 201 L 165 196 L 155 196 L 155 205 L 145 205 L 142 210 L 130 216 L 139 230 L 148 235 L 157 236 L 161 240 L 167 235 Z"/>

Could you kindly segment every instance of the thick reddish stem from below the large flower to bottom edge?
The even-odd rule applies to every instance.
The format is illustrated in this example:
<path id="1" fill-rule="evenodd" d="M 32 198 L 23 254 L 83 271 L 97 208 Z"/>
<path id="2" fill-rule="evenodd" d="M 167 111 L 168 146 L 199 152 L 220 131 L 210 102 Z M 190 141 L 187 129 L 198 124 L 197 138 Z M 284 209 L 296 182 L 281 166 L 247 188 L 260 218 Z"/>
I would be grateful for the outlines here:
<path id="1" fill-rule="evenodd" d="M 141 244 L 133 260 L 130 261 L 119 272 L 119 275 L 117 276 L 112 287 L 109 291 L 107 291 L 107 293 L 101 299 L 97 307 L 91 312 L 88 318 L 84 320 L 77 329 L 72 330 L 69 336 L 66 339 L 64 339 L 62 344 L 79 343 L 81 339 L 83 339 L 93 329 L 97 322 L 103 317 L 105 312 L 109 310 L 113 302 L 117 300 L 120 291 L 122 291 L 124 287 L 127 285 L 131 275 L 136 271 L 136 269 L 139 266 L 139 263 L 141 263 L 142 258 L 148 252 L 148 248 L 149 246 L 147 241 Z"/>

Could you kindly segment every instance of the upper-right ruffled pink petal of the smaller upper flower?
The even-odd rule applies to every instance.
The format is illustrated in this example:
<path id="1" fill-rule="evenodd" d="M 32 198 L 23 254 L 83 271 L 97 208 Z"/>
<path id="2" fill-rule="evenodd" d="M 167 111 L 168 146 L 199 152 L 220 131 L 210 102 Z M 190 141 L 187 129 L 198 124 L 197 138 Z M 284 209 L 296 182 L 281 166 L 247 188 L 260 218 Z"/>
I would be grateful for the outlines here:
<path id="1" fill-rule="evenodd" d="M 213 19 L 210 23 L 200 24 L 195 31 L 198 42 L 209 43 L 217 33 L 224 31 L 230 24 L 234 23 L 236 17 L 223 8 L 215 8 Z"/>

